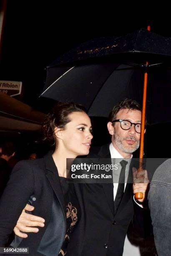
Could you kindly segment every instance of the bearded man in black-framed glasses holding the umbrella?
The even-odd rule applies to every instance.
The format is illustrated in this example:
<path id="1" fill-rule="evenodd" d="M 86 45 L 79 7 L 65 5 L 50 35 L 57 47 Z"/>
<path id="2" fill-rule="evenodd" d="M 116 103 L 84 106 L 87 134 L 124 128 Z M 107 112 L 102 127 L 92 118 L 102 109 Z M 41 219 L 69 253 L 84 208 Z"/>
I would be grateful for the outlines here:
<path id="1" fill-rule="evenodd" d="M 120 161 L 123 158 L 128 159 L 128 161 L 124 161 L 126 166 L 123 168 L 125 169 L 125 181 L 127 182 L 127 178 L 130 176 L 128 175 L 129 169 L 132 172 L 131 166 L 129 168 L 130 159 L 132 153 L 139 147 L 140 141 L 141 107 L 138 102 L 128 99 L 119 102 L 113 108 L 107 126 L 111 135 L 111 143 L 102 146 L 98 151 L 96 150 L 96 153 L 90 154 L 89 157 L 97 159 L 108 158 L 110 161 L 111 158 L 120 159 Z M 121 162 L 123 164 L 123 161 Z M 120 173 L 115 174 L 119 181 Z M 138 223 L 142 222 L 143 224 L 142 216 L 144 213 L 146 214 L 146 209 L 143 209 L 142 205 L 138 205 L 133 199 L 133 193 L 136 192 L 143 193 L 143 198 L 139 200 L 139 204 L 142 204 L 146 197 L 148 178 L 145 173 L 146 182 L 136 183 L 136 179 L 139 179 L 139 176 L 136 169 L 134 169 L 134 183 L 133 185 L 130 182 L 125 184 L 122 196 L 119 191 L 121 186 L 115 181 L 109 184 L 82 184 L 86 215 L 82 256 L 122 255 L 126 232 L 128 225 L 133 220 L 133 215 L 134 224 L 138 226 Z M 119 198 L 120 200 L 118 200 Z M 31 207 L 27 207 L 27 209 L 30 210 Z M 22 220 L 22 218 L 25 220 Z M 23 214 L 22 218 L 19 219 L 18 225 L 15 227 L 16 235 L 27 236 L 26 234 L 21 234 L 18 229 L 26 232 L 38 232 L 37 228 L 26 228 L 23 225 L 43 225 L 43 221 L 36 216 L 32 216 L 35 222 L 30 222 L 31 219 L 26 213 Z"/>

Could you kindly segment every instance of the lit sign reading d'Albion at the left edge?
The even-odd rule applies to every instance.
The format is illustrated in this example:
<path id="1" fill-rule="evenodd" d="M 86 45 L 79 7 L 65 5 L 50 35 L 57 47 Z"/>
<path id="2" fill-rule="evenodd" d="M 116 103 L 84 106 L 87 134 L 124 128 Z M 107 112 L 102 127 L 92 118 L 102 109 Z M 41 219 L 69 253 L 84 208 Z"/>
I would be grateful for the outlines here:
<path id="1" fill-rule="evenodd" d="M 21 94 L 22 82 L 0 80 L 0 92 L 10 96 Z"/>

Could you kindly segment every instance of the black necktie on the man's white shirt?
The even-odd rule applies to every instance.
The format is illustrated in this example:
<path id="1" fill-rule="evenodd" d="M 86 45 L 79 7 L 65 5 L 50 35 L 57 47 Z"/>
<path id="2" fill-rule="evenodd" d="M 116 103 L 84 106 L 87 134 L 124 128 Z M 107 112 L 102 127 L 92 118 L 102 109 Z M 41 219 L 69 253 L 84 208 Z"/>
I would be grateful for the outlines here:
<path id="1" fill-rule="evenodd" d="M 120 162 L 121 164 L 121 172 L 119 175 L 119 183 L 118 183 L 118 189 L 117 189 L 117 193 L 116 193 L 116 197 L 115 197 L 115 214 L 118 210 L 118 207 L 120 205 L 120 202 L 122 200 L 123 194 L 124 194 L 124 187 L 125 187 L 125 169 L 126 169 L 126 165 L 128 164 L 127 161 L 122 160 Z"/>

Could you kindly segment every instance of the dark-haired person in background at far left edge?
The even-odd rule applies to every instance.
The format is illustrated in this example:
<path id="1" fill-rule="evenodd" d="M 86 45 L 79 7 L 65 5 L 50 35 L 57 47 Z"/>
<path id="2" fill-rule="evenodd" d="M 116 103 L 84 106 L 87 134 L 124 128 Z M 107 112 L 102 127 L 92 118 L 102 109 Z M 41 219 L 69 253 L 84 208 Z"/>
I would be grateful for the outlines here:
<path id="1" fill-rule="evenodd" d="M 10 177 L 11 168 L 8 161 L 15 155 L 13 142 L 5 142 L 0 147 L 0 196 L 6 187 Z"/>

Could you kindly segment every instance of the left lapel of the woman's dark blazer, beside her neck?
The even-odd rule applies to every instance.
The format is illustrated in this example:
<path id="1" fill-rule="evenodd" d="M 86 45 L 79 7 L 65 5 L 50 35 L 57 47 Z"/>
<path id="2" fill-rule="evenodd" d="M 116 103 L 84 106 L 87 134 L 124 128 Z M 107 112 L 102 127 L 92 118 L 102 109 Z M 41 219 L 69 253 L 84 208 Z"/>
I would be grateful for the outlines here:
<path id="1" fill-rule="evenodd" d="M 47 169 L 46 177 L 48 178 L 50 185 L 58 198 L 58 201 L 60 202 L 60 206 L 63 211 L 63 215 L 66 221 L 66 209 L 65 209 L 65 201 L 63 197 L 63 192 L 60 184 L 60 179 L 58 175 L 58 169 L 55 165 L 55 162 L 53 161 L 52 152 L 49 152 L 47 155 L 44 156 L 45 160 L 45 167 Z"/>

